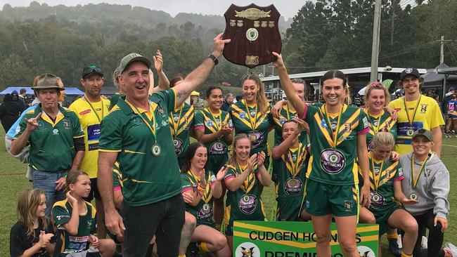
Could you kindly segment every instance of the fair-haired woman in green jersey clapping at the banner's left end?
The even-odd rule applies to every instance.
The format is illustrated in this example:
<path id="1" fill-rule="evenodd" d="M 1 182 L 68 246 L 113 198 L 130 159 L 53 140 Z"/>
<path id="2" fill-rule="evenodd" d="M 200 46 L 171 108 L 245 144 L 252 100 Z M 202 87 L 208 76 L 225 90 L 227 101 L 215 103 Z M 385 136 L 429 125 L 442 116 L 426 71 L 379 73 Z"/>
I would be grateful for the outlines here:
<path id="1" fill-rule="evenodd" d="M 224 223 L 230 249 L 233 249 L 233 220 L 264 220 L 259 184 L 266 187 L 271 184 L 270 174 L 264 166 L 265 153 L 250 156 L 251 140 L 246 134 L 235 136 L 233 148 L 224 178 L 228 189 Z"/>

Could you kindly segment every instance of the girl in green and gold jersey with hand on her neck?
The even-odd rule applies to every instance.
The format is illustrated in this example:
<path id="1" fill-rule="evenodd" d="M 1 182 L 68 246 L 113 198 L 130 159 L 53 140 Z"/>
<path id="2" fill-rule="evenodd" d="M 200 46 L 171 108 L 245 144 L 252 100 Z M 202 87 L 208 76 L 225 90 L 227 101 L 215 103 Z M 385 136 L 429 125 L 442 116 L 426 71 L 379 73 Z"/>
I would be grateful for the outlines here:
<path id="1" fill-rule="evenodd" d="M 96 210 L 92 204 L 85 202 L 91 191 L 91 180 L 83 171 L 69 172 L 66 179 L 67 199 L 56 202 L 52 213 L 58 229 L 63 229 L 64 244 L 60 256 L 79 253 L 85 256 L 88 243 L 98 248 L 103 256 L 112 256 L 115 242 L 112 239 L 98 239 L 91 235 L 96 232 Z"/>

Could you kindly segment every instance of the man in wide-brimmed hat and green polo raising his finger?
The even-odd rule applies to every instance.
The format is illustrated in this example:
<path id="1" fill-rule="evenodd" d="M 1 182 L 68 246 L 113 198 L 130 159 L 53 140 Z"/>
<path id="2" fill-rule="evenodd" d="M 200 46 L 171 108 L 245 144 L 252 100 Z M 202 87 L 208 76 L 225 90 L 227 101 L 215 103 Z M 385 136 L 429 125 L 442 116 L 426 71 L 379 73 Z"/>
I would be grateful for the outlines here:
<path id="1" fill-rule="evenodd" d="M 84 157 L 84 132 L 75 112 L 58 104 L 58 77 L 43 74 L 33 87 L 41 102 L 20 121 L 20 130 L 11 143 L 15 155 L 30 145 L 29 166 L 33 187 L 46 195 L 46 216 L 55 202 L 65 199 L 65 176 L 79 169 Z"/>

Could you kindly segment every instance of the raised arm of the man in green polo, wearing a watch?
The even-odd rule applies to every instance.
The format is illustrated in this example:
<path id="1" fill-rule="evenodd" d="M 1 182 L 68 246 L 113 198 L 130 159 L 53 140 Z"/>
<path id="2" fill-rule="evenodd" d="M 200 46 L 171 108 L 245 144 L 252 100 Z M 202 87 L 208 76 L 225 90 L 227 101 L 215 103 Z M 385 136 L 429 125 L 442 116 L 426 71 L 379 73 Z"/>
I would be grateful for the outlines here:
<path id="1" fill-rule="evenodd" d="M 212 55 L 215 58 L 221 57 L 224 45 L 229 42 L 230 39 L 222 39 L 222 33 L 217 35 L 217 37 L 213 39 L 214 46 Z M 212 68 L 216 65 L 215 63 L 216 60 L 213 61 L 211 58 L 205 58 L 202 64 L 193 70 L 193 72 L 188 74 L 184 81 L 174 86 L 174 91 L 176 93 L 175 106 L 179 106 L 184 103 L 184 100 L 191 95 L 191 92 L 206 81 L 207 77 L 210 76 Z"/>

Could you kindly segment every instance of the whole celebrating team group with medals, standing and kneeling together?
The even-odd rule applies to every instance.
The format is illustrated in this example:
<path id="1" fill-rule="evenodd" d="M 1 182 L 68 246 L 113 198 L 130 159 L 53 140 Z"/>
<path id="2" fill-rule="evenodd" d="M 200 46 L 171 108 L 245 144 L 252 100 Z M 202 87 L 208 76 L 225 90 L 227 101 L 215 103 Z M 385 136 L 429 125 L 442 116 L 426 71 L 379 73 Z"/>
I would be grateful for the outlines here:
<path id="1" fill-rule="evenodd" d="M 307 105 L 304 81 L 291 81 L 273 53 L 287 102 L 271 108 L 262 81 L 251 74 L 242 80 L 243 100 L 228 112 L 221 110 L 221 88 L 212 86 L 208 106 L 195 113 L 185 100 L 229 41 L 219 34 L 199 67 L 171 81 L 157 52 L 155 88 L 153 63 L 126 55 L 113 74 L 120 93 L 111 103 L 100 95 L 104 77 L 96 65 L 84 67 L 86 93 L 68 110 L 57 104 L 58 79 L 39 77 L 34 90 L 41 104 L 22 117 L 10 149 L 17 156 L 30 145 L 35 188 L 20 196 L 11 256 L 85 256 L 93 250 L 88 245 L 112 256 L 115 243 L 92 235 L 98 230 L 104 238 L 104 227 L 122 243 L 123 256 L 150 256 L 154 246 L 159 256 L 190 256 L 195 249 L 231 256 L 233 221 L 264 220 L 261 195 L 271 183 L 276 220 L 311 220 L 318 256 L 330 256 L 333 219 L 345 256 L 359 256 L 359 221 L 380 224 L 380 235 L 387 232 L 392 242 L 401 229 L 401 256 L 452 256 L 451 245 L 441 249 L 449 212 L 449 172 L 439 160 L 444 121 L 435 100 L 420 94 L 416 69 L 401 73 L 406 95 L 392 103 L 381 84 L 370 84 L 365 109 L 347 103 L 345 74 L 332 70 L 321 78 L 326 103 Z M 50 209 L 63 230 L 57 250 L 44 218 Z"/>

